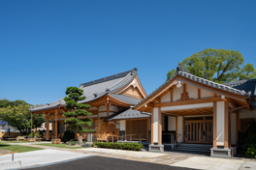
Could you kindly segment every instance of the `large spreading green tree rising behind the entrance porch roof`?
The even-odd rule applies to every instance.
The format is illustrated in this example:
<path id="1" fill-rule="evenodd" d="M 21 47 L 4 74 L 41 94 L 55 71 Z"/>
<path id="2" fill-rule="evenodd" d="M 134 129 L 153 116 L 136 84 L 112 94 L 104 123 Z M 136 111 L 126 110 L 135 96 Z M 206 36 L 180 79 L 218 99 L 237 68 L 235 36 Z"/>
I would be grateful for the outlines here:
<path id="1" fill-rule="evenodd" d="M 242 55 L 235 50 L 207 48 L 185 58 L 181 65 L 194 75 L 218 83 L 256 77 L 253 65 L 244 65 Z M 175 70 L 169 71 L 167 79 L 172 78 L 175 73 Z"/>

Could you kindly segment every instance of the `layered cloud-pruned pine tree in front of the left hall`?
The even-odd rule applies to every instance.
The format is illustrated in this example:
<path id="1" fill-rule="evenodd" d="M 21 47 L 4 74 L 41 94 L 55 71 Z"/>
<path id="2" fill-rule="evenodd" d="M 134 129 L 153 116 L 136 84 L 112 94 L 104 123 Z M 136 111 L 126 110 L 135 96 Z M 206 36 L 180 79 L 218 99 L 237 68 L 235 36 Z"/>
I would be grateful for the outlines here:
<path id="1" fill-rule="evenodd" d="M 90 108 L 90 105 L 78 102 L 80 100 L 86 99 L 86 97 L 82 96 L 83 90 L 78 87 L 68 87 L 66 90 L 66 95 L 67 97 L 64 98 L 66 101 L 65 109 L 70 111 L 63 113 L 64 117 L 68 117 L 64 124 L 68 125 L 68 129 L 76 129 L 80 135 L 84 132 L 92 132 L 93 129 L 88 128 L 92 124 L 91 119 L 78 119 L 79 116 L 91 115 L 91 113 L 86 110 Z"/>

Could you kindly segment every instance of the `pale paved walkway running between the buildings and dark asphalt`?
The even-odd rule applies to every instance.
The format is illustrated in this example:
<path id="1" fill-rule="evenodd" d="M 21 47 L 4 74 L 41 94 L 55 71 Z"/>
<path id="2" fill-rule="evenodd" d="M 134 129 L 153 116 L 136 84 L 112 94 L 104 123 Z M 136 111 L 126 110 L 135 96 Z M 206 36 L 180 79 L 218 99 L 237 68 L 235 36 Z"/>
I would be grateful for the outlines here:
<path id="1" fill-rule="evenodd" d="M 172 165 L 176 167 L 188 167 L 193 169 L 225 169 L 225 170 L 256 170 L 256 161 L 248 161 L 238 158 L 214 158 L 209 156 L 196 156 L 188 154 L 179 154 L 173 152 L 166 153 L 149 153 L 149 152 L 133 152 L 123 150 L 111 150 L 101 148 L 84 148 L 84 149 L 66 149 L 57 147 L 48 147 L 42 145 L 33 145 L 32 143 L 23 143 L 31 147 L 45 148 L 51 150 L 52 153 L 66 152 L 66 155 L 74 156 L 104 156 L 126 160 L 142 161 L 157 163 L 163 165 Z M 45 151 L 45 150 L 43 150 Z M 42 152 L 42 151 L 39 151 Z M 32 153 L 32 152 L 29 152 Z M 29 153 L 27 153 L 29 155 Z M 70 154 L 67 154 L 70 153 Z M 77 155 L 78 154 L 78 155 Z M 36 158 L 36 157 L 35 157 Z M 38 158 L 36 158 L 38 159 Z"/>

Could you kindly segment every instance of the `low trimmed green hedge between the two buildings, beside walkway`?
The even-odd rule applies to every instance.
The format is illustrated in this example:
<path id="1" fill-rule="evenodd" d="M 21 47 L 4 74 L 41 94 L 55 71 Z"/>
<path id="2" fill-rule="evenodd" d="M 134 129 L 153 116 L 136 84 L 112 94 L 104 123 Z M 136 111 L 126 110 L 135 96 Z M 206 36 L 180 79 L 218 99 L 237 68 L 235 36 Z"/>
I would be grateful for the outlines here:
<path id="1" fill-rule="evenodd" d="M 144 145 L 139 143 L 94 142 L 93 146 L 96 146 L 98 148 L 109 148 L 130 151 L 141 151 L 144 148 Z"/>

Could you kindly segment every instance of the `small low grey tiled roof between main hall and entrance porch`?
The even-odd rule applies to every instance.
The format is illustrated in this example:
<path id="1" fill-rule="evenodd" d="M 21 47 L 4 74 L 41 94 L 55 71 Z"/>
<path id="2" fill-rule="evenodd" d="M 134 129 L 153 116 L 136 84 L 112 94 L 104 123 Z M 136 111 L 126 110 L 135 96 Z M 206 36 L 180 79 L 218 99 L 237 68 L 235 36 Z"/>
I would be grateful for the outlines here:
<path id="1" fill-rule="evenodd" d="M 113 121 L 113 120 L 124 120 L 124 119 L 137 119 L 137 118 L 149 118 L 150 113 L 135 111 L 132 108 L 129 108 L 125 111 L 114 113 L 104 121 Z"/>

